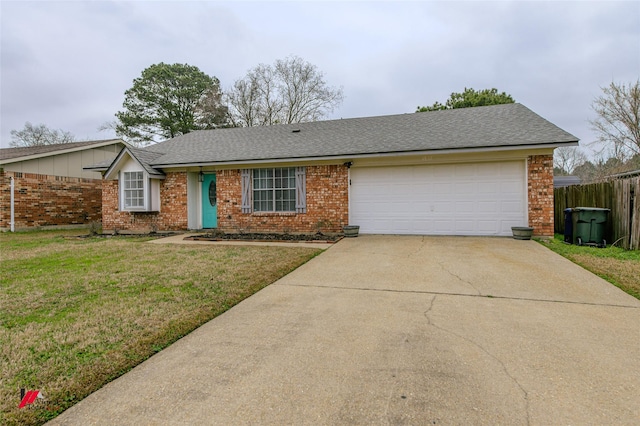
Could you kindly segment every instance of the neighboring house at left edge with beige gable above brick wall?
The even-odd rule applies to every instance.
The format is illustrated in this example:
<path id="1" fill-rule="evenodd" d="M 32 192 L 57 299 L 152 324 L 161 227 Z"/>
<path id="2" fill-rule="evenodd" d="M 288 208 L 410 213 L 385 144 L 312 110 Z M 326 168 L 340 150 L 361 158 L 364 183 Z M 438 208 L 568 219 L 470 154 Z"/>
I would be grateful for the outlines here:
<path id="1" fill-rule="evenodd" d="M 102 218 L 102 179 L 91 164 L 109 163 L 120 139 L 0 149 L 0 229 L 83 225 Z"/>

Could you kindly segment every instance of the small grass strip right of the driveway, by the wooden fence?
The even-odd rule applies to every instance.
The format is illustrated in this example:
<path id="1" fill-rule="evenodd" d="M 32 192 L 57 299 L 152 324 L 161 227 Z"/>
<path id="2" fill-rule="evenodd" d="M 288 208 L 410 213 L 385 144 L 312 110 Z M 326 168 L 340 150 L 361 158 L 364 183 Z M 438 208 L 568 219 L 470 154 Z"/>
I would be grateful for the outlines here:
<path id="1" fill-rule="evenodd" d="M 560 234 L 540 243 L 640 299 L 640 251 L 576 246 L 565 243 Z"/>

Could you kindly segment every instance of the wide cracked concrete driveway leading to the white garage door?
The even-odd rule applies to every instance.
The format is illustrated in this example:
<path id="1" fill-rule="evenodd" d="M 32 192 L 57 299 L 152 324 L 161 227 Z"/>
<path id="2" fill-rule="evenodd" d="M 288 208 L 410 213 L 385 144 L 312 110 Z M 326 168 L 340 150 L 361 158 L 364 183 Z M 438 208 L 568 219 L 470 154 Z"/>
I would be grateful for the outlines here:
<path id="1" fill-rule="evenodd" d="M 640 301 L 533 241 L 360 236 L 51 424 L 640 422 Z"/>

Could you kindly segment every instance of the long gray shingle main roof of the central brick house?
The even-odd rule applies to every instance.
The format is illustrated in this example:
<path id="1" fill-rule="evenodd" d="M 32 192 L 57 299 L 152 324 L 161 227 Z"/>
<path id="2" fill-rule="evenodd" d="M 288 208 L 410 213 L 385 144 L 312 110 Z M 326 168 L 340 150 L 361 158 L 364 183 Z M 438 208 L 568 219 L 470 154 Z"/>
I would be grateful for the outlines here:
<path id="1" fill-rule="evenodd" d="M 299 131 L 295 131 L 299 130 Z M 203 130 L 146 148 L 155 167 L 420 151 L 523 147 L 578 138 L 521 104 Z"/>

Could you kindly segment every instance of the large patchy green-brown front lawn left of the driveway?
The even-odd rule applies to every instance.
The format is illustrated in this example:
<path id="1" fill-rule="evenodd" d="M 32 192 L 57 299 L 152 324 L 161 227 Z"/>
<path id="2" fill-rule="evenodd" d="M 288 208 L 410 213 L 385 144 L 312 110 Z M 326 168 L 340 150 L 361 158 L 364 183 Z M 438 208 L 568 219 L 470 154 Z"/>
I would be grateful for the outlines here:
<path id="1" fill-rule="evenodd" d="M 0 424 L 42 424 L 319 253 L 0 234 Z M 18 409 L 20 389 L 46 399 Z"/>

